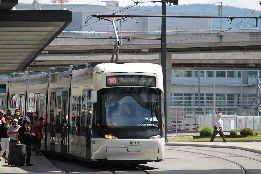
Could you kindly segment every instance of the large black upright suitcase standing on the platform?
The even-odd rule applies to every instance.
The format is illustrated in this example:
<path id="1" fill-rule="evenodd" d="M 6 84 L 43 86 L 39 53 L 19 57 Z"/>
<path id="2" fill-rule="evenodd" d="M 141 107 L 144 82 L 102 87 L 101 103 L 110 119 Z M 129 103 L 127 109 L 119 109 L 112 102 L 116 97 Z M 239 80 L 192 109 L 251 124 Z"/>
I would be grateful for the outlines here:
<path id="1" fill-rule="evenodd" d="M 25 165 L 25 146 L 25 144 L 13 144 L 11 146 L 10 161 L 8 161 L 11 166 Z"/>

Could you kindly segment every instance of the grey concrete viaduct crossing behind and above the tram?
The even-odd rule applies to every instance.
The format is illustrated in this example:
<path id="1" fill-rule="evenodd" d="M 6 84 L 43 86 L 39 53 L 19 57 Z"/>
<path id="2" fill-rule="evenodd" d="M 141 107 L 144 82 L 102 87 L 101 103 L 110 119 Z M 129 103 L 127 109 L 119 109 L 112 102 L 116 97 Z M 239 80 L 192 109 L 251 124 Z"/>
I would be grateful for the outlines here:
<path id="1" fill-rule="evenodd" d="M 172 69 L 260 69 L 261 32 L 169 33 L 167 60 Z M 160 63 L 160 33 L 122 35 L 118 62 Z M 115 37 L 109 34 L 60 34 L 28 70 L 46 70 L 111 60 Z"/>

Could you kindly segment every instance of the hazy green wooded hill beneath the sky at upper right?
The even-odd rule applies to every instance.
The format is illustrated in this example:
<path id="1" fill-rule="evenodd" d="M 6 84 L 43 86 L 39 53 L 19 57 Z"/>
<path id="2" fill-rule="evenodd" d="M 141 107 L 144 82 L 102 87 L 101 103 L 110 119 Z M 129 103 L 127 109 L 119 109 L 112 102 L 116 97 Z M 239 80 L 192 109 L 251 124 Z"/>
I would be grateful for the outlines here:
<path id="1" fill-rule="evenodd" d="M 136 6 L 135 6 L 136 7 Z M 258 6 L 257 6 L 258 7 Z M 155 6 L 140 6 L 138 9 L 144 9 L 144 10 L 157 10 L 161 11 L 162 7 L 159 5 Z M 261 7 L 258 8 L 258 10 L 261 10 Z M 189 4 L 189 5 L 175 5 L 175 6 L 169 6 L 167 5 L 167 11 L 169 12 L 178 12 L 178 13 L 191 13 L 191 14 L 204 14 L 204 15 L 211 15 L 211 16 L 218 16 L 218 5 L 214 4 Z M 254 10 L 247 9 L 247 8 L 239 8 L 239 7 L 231 7 L 228 5 L 223 5 L 222 9 L 222 16 L 237 16 L 237 17 L 246 17 L 249 14 L 251 14 Z M 254 11 L 250 16 L 256 17 L 260 16 L 261 11 Z M 225 27 L 228 28 L 231 26 L 237 25 L 240 21 L 243 19 L 234 19 L 230 25 L 230 20 L 228 19 L 222 19 L 222 28 Z M 255 19 L 245 19 L 243 20 L 239 26 L 247 26 L 247 25 L 255 25 L 256 20 Z M 220 19 L 212 19 L 212 29 L 220 29 Z M 253 28 L 253 26 L 250 27 L 244 27 L 244 28 Z M 261 28 L 261 19 L 258 20 L 258 28 Z"/>

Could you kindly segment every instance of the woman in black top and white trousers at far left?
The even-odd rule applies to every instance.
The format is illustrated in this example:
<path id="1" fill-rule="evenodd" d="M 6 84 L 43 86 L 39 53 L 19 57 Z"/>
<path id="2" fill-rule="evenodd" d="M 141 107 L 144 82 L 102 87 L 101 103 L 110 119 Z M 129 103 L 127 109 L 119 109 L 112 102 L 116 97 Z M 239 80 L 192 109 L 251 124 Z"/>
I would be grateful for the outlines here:
<path id="1" fill-rule="evenodd" d="M 2 150 L 0 151 L 0 161 L 1 161 L 1 156 L 4 154 L 5 152 L 5 163 L 8 163 L 8 153 L 9 153 L 9 141 L 10 138 L 7 135 L 7 129 L 10 126 L 10 122 L 11 122 L 11 117 L 6 116 L 5 117 L 5 124 L 2 124 L 0 126 L 0 136 L 1 136 L 1 146 L 2 146 Z"/>

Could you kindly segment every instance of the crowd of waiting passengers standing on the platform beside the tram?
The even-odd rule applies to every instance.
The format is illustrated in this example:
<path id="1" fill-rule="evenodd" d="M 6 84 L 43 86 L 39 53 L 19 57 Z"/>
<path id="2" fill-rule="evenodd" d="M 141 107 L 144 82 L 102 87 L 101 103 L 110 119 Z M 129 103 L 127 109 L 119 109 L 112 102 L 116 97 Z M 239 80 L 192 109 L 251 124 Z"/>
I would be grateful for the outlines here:
<path id="1" fill-rule="evenodd" d="M 26 112 L 23 117 L 19 109 L 16 109 L 14 115 L 11 114 L 12 109 L 8 108 L 5 114 L 3 110 L 0 110 L 0 161 L 1 156 L 5 152 L 5 163 L 11 165 L 11 147 L 13 144 L 25 144 L 26 146 L 26 166 L 32 166 L 30 163 L 31 158 L 31 144 L 36 144 L 35 155 L 41 156 L 39 152 L 41 148 L 41 139 L 43 138 L 43 117 L 37 117 L 37 111 L 34 114 L 31 110 Z M 38 123 L 33 125 L 31 120 L 38 120 Z M 31 127 L 36 127 L 35 134 L 32 132 Z M 31 138 L 33 137 L 33 138 Z M 32 141 L 33 140 L 33 141 Z M 14 153 L 14 152 L 13 152 Z M 17 154 L 18 156 L 19 154 Z M 14 156 L 14 155 L 12 155 Z"/>

